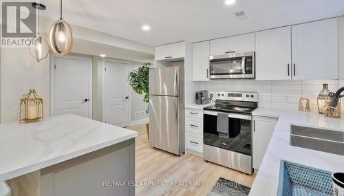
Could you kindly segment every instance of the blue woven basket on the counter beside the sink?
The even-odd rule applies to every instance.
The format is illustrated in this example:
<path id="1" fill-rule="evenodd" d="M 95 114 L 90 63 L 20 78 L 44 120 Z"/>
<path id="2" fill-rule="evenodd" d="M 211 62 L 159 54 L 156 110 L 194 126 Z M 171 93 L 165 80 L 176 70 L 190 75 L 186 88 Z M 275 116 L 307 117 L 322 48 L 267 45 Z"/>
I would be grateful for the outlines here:
<path id="1" fill-rule="evenodd" d="M 332 196 L 329 171 L 281 160 L 278 196 Z"/>

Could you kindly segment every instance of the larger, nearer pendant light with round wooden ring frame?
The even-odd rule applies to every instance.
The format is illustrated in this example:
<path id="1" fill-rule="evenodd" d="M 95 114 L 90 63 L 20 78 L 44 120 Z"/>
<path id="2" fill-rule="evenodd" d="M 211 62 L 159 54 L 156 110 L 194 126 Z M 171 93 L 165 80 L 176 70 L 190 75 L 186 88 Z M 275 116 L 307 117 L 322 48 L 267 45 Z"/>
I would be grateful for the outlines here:
<path id="1" fill-rule="evenodd" d="M 60 19 L 52 23 L 49 46 L 54 54 L 64 56 L 72 50 L 73 32 L 71 26 L 62 18 L 62 0 L 60 3 Z"/>

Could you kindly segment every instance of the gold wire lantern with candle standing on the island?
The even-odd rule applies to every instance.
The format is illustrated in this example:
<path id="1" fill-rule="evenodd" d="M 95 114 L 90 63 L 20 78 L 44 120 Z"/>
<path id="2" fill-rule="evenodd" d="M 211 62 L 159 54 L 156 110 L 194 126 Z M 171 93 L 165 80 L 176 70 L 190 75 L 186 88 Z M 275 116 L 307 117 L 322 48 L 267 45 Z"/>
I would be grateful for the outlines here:
<path id="1" fill-rule="evenodd" d="M 43 120 L 43 98 L 36 94 L 35 89 L 23 95 L 19 107 L 19 123 Z"/>

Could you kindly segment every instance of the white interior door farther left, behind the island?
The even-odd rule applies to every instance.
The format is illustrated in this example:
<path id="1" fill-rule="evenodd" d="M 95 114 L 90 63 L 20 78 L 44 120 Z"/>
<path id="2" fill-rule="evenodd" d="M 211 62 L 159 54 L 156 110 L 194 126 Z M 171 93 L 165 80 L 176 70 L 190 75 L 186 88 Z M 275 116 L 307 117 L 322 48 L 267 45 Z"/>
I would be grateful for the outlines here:
<path id="1" fill-rule="evenodd" d="M 52 66 L 52 116 L 74 113 L 92 118 L 92 60 L 55 57 Z"/>

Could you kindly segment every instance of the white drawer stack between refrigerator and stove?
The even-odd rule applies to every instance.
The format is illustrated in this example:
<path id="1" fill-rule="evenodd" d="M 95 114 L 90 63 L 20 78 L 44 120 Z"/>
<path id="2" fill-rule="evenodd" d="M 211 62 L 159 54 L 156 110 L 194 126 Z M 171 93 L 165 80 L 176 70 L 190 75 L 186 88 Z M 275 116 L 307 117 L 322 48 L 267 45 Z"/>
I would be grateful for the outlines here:
<path id="1" fill-rule="evenodd" d="M 203 153 L 203 110 L 185 110 L 185 146 L 186 151 Z"/>

